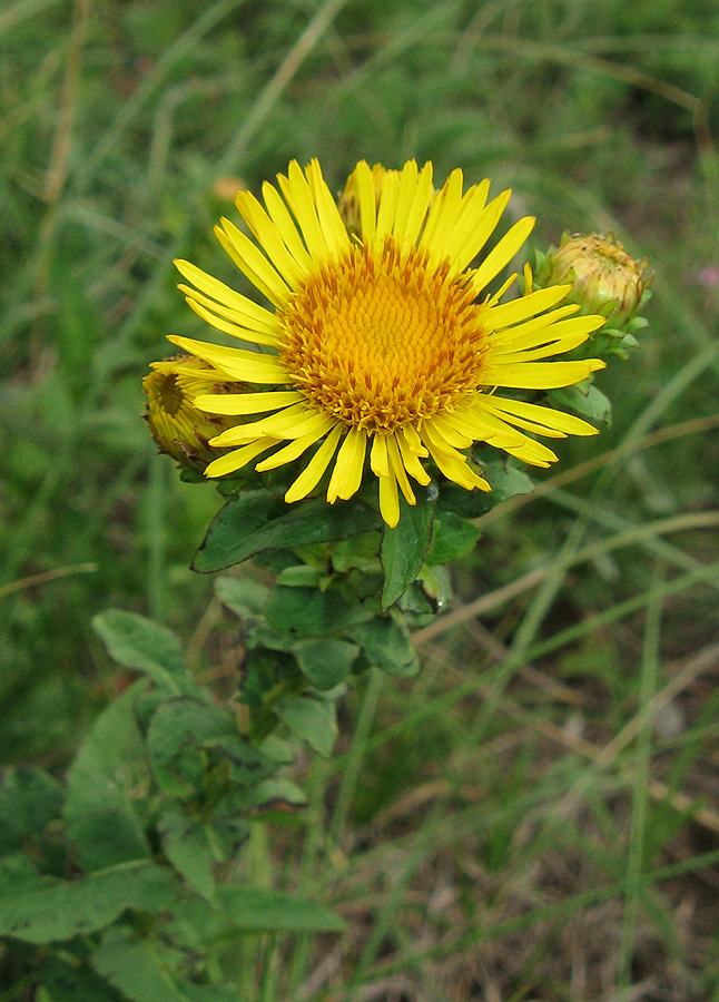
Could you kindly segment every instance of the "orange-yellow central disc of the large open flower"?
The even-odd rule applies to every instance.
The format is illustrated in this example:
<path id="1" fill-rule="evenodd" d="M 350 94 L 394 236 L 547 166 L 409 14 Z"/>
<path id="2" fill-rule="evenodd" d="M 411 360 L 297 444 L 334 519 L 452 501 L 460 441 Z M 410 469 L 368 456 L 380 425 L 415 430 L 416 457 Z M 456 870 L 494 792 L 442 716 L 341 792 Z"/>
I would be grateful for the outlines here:
<path id="1" fill-rule="evenodd" d="M 391 433 L 475 390 L 489 348 L 466 276 L 424 252 L 353 246 L 313 274 L 283 314 L 296 387 L 352 428 Z"/>

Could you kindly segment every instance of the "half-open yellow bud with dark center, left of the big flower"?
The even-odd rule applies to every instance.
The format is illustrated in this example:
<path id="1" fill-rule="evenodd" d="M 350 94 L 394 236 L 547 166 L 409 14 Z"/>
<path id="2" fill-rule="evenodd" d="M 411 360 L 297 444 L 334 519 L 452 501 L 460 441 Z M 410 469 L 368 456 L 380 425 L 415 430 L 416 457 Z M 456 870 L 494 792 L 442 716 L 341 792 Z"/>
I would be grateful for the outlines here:
<path id="1" fill-rule="evenodd" d="M 145 419 L 160 452 L 185 469 L 204 472 L 223 450 L 207 444 L 239 418 L 206 414 L 193 405 L 200 393 L 238 393 L 244 383 L 228 383 L 226 376 L 194 355 L 175 355 L 152 362 L 152 372 L 142 380 L 147 394 Z"/>

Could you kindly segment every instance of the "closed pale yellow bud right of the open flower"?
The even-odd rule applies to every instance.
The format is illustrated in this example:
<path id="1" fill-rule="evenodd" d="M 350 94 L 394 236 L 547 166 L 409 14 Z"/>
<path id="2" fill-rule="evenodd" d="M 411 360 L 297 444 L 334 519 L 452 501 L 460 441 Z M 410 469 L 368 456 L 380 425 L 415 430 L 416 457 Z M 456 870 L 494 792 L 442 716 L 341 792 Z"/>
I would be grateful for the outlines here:
<path id="1" fill-rule="evenodd" d="M 644 276 L 649 262 L 634 261 L 610 234 L 564 234 L 558 249 L 540 271 L 539 284 L 571 284 L 568 303 L 582 313 L 598 313 L 608 327 L 623 327 L 639 310 L 652 276 Z"/>

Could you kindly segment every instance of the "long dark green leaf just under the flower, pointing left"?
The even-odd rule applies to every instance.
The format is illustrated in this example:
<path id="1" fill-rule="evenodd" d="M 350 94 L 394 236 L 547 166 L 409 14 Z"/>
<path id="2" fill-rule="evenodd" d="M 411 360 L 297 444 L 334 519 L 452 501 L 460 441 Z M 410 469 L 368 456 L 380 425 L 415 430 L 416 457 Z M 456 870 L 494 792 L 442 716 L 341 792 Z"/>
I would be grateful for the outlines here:
<path id="1" fill-rule="evenodd" d="M 285 504 L 269 491 L 247 491 L 217 513 L 195 554 L 193 569 L 211 573 L 264 550 L 347 539 L 375 528 L 377 521 L 376 512 L 360 501 Z"/>

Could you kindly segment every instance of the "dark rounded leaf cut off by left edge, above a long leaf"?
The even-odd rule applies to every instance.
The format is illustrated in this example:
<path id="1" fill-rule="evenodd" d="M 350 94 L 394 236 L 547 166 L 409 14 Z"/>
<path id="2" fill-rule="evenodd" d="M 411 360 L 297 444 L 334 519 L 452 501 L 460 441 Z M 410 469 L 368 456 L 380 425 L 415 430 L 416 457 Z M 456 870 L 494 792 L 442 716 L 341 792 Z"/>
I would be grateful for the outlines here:
<path id="1" fill-rule="evenodd" d="M 26 847 L 28 837 L 40 838 L 61 808 L 62 790 L 52 776 L 30 766 L 9 768 L 0 783 L 0 855 Z"/>

